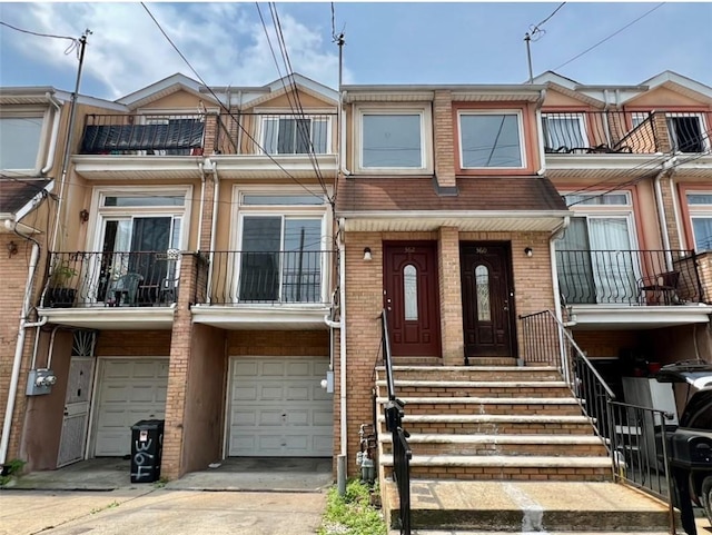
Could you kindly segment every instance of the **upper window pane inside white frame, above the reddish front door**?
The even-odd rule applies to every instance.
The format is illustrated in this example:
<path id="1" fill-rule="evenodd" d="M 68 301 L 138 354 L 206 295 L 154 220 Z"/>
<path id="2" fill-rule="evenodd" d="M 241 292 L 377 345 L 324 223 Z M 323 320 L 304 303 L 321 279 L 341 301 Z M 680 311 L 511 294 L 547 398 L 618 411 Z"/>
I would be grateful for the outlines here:
<path id="1" fill-rule="evenodd" d="M 422 113 L 362 115 L 360 167 L 364 169 L 422 169 Z"/>

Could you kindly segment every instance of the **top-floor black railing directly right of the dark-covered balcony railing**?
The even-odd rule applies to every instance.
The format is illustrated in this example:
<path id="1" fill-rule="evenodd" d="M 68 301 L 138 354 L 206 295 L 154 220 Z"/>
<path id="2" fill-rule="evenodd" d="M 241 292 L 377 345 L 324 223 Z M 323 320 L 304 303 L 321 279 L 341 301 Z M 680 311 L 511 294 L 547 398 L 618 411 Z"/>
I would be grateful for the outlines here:
<path id="1" fill-rule="evenodd" d="M 215 150 L 224 155 L 330 155 L 336 152 L 335 123 L 336 113 L 222 115 Z"/>

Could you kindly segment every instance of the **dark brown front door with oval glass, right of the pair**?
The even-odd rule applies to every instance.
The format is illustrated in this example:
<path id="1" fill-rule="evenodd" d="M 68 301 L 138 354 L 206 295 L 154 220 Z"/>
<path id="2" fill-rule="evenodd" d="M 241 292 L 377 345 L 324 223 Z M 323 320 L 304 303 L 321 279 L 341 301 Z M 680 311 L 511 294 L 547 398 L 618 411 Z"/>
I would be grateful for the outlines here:
<path id="1" fill-rule="evenodd" d="M 507 244 L 462 244 L 465 360 L 514 356 L 514 298 Z"/>

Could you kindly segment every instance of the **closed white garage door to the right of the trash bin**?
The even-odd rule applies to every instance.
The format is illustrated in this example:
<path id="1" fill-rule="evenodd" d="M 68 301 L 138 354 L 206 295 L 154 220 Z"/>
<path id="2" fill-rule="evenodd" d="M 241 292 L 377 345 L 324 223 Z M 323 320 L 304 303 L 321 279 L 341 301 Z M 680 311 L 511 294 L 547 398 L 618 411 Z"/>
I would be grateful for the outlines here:
<path id="1" fill-rule="evenodd" d="M 325 358 L 233 359 L 228 455 L 330 457 L 327 369 Z"/>

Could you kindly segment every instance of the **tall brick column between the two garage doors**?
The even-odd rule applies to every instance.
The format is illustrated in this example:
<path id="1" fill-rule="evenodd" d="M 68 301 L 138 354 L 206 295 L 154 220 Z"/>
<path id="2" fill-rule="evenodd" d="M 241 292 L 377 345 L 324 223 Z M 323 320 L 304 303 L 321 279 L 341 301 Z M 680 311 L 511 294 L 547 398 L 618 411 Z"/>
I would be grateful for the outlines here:
<path id="1" fill-rule="evenodd" d="M 166 424 L 164 429 L 164 456 L 161 475 L 176 479 L 182 475 L 184 418 L 188 385 L 188 361 L 192 338 L 190 303 L 195 295 L 198 259 L 184 254 L 180 262 L 178 303 L 174 316 L 166 393 Z"/>

